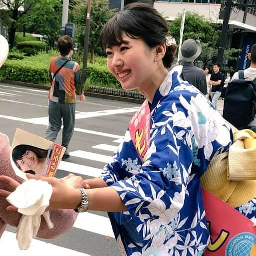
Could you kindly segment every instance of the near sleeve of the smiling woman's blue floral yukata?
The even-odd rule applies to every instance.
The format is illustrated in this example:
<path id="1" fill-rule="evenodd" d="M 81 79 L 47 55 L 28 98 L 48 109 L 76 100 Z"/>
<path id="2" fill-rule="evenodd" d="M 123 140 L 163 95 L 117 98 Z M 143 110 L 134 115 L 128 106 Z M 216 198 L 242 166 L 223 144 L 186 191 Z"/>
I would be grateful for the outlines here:
<path id="1" fill-rule="evenodd" d="M 132 177 L 111 187 L 131 216 L 169 223 L 184 205 L 193 154 L 176 139 L 173 122 L 164 115 L 165 107 L 162 104 L 155 113 L 145 163 Z"/>

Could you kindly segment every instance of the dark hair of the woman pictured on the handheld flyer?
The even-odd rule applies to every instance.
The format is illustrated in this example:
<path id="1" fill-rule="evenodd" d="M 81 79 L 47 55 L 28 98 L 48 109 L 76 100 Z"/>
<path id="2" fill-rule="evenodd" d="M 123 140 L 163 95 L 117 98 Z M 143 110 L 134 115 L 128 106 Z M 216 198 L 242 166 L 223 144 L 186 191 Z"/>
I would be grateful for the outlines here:
<path id="1" fill-rule="evenodd" d="M 15 165 L 18 167 L 18 169 L 21 170 L 20 166 L 18 165 L 17 163 L 17 160 L 21 160 L 22 157 L 24 156 L 24 154 L 26 153 L 26 151 L 29 150 L 29 151 L 33 151 L 37 158 L 46 158 L 47 157 L 47 153 L 48 153 L 48 150 L 47 149 L 41 149 L 41 148 L 37 148 L 37 147 L 34 147 L 34 146 L 31 146 L 31 145 L 26 145 L 26 144 L 20 144 L 20 145 L 17 145 L 13 150 L 12 150 L 12 159 L 15 163 Z M 28 170 L 28 171 L 25 171 L 25 172 L 33 172 L 31 170 Z"/>

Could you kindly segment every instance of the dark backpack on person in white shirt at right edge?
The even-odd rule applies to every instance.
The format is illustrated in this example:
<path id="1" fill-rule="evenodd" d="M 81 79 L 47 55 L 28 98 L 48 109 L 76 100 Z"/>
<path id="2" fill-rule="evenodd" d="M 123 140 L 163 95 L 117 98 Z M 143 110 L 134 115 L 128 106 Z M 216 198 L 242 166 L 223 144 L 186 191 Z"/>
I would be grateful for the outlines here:
<path id="1" fill-rule="evenodd" d="M 244 70 L 239 70 L 239 79 L 227 87 L 223 117 L 238 129 L 247 128 L 256 115 L 256 78 L 245 80 Z"/>

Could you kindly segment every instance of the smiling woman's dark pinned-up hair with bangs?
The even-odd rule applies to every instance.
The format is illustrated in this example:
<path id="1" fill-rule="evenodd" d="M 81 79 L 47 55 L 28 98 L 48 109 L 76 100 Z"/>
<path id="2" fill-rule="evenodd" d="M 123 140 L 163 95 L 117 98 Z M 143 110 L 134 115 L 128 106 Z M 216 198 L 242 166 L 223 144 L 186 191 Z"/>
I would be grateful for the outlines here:
<path id="1" fill-rule="evenodd" d="M 149 48 L 160 43 L 166 43 L 168 25 L 164 17 L 146 2 L 134 2 L 127 4 L 123 11 L 117 12 L 107 21 L 100 33 L 101 47 L 105 51 L 108 46 L 121 45 L 122 34 L 125 33 L 132 39 L 142 39 Z M 170 67 L 176 45 L 166 46 L 163 57 L 165 67 Z"/>

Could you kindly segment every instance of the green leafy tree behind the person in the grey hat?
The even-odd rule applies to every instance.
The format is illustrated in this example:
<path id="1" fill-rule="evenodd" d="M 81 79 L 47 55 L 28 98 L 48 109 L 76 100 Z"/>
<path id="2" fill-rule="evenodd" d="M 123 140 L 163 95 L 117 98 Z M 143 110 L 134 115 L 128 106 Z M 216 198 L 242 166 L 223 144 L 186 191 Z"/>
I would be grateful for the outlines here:
<path id="1" fill-rule="evenodd" d="M 172 34 L 177 44 L 180 41 L 180 27 L 182 14 L 179 14 L 170 24 L 169 31 Z M 204 65 L 212 63 L 218 55 L 218 44 L 220 40 L 221 26 L 214 24 L 205 16 L 201 16 L 195 12 L 186 12 L 183 41 L 188 38 L 199 39 L 202 44 L 202 53 L 198 60 L 201 60 Z M 233 60 L 238 58 L 240 49 L 226 49 L 225 59 Z M 231 68 L 230 68 L 231 69 Z"/>

